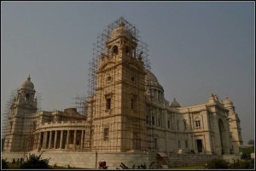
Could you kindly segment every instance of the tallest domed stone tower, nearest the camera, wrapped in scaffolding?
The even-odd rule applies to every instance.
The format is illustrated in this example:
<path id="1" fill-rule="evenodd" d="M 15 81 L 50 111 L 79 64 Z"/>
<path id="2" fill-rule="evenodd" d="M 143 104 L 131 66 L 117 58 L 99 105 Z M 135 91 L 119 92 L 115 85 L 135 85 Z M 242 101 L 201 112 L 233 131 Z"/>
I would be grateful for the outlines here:
<path id="1" fill-rule="evenodd" d="M 96 71 L 93 150 L 145 150 L 145 71 L 136 31 L 120 18 Z"/>

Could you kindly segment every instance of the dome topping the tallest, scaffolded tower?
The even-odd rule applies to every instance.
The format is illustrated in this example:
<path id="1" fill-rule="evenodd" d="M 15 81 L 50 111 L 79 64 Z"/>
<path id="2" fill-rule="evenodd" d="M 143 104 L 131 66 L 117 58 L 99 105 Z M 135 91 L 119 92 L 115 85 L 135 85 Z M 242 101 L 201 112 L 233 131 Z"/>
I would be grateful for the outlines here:
<path id="1" fill-rule="evenodd" d="M 131 31 L 129 31 L 125 27 L 125 23 L 123 22 L 123 20 L 120 20 L 119 26 L 117 28 L 113 29 L 111 36 L 110 36 L 110 40 L 113 40 L 119 36 L 124 36 L 124 37 L 132 39 Z"/>

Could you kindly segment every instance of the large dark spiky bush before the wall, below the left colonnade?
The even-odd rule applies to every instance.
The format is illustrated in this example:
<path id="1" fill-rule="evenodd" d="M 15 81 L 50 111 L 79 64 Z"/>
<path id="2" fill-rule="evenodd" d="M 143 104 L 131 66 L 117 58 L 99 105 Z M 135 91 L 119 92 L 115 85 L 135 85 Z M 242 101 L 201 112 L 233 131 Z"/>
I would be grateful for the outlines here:
<path id="1" fill-rule="evenodd" d="M 42 153 L 39 156 L 29 154 L 29 157 L 26 157 L 26 162 L 23 162 L 20 168 L 49 168 L 49 159 L 40 159 L 41 155 Z"/>

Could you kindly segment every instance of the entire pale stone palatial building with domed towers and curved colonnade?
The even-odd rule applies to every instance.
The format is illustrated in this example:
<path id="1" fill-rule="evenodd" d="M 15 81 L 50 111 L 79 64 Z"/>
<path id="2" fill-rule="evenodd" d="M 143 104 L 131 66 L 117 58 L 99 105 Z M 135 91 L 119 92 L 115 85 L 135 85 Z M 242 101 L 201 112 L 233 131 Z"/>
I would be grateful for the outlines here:
<path id="1" fill-rule="evenodd" d="M 37 111 L 28 77 L 10 108 L 3 151 L 239 153 L 240 119 L 230 99 L 211 94 L 200 105 L 170 105 L 129 26 L 120 18 L 103 43 L 85 115 Z"/>

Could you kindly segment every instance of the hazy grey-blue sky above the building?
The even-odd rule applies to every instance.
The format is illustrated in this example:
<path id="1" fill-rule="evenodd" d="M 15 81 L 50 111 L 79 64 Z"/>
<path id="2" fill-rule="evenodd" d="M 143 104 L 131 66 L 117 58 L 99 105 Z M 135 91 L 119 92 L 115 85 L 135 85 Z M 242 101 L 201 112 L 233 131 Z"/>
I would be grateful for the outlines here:
<path id="1" fill-rule="evenodd" d="M 123 16 L 148 44 L 166 100 L 230 97 L 242 137 L 254 139 L 253 2 L 2 2 L 1 113 L 31 74 L 44 111 L 72 107 L 87 91 L 93 43 Z"/>

